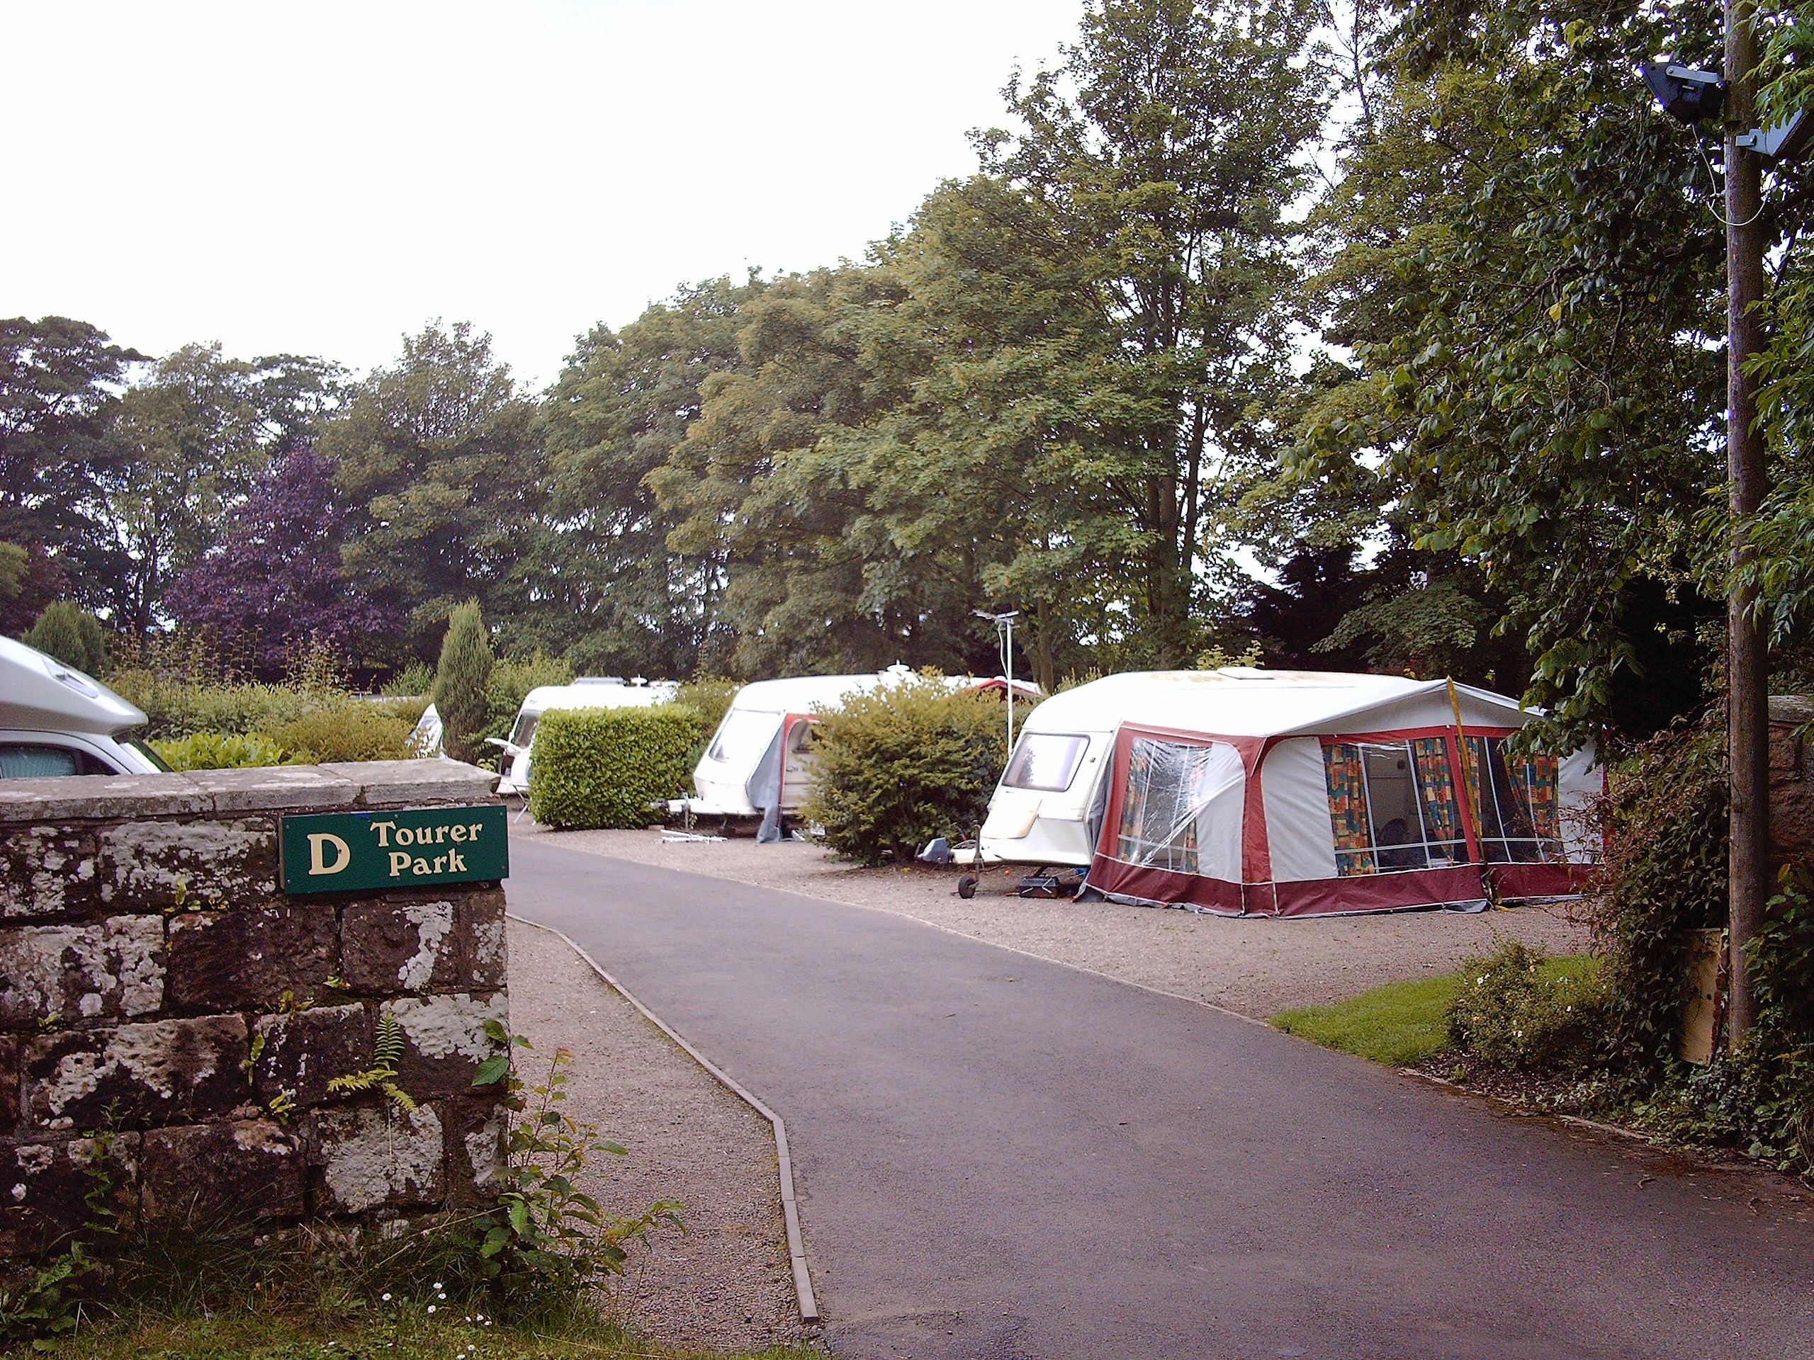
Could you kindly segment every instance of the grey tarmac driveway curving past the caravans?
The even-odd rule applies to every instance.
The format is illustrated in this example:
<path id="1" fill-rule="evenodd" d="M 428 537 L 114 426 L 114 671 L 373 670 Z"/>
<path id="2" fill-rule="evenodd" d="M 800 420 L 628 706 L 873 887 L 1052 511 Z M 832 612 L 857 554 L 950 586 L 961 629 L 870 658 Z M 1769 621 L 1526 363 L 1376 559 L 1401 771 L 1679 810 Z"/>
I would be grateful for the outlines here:
<path id="1" fill-rule="evenodd" d="M 1814 1215 L 883 912 L 513 841 L 787 1121 L 851 1356 L 1814 1356 Z"/>

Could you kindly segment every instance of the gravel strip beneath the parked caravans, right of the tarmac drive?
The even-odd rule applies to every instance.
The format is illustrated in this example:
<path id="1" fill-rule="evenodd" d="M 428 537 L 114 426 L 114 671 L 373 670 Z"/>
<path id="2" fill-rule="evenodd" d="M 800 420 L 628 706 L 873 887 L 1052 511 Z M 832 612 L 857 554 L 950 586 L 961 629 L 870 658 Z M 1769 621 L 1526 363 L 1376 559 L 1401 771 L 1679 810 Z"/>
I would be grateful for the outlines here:
<path id="1" fill-rule="evenodd" d="M 1380 983 L 1442 972 L 1504 937 L 1518 937 L 1553 954 L 1575 954 L 1587 947 L 1585 925 L 1571 921 L 1565 907 L 1517 907 L 1477 916 L 1197 916 L 1107 901 L 1078 905 L 1018 898 L 1014 889 L 1025 872 L 1019 869 L 990 870 L 976 896 L 965 901 L 958 896 L 954 869 L 856 869 L 800 841 L 669 841 L 653 829 L 551 832 L 530 821 L 519 823 L 515 834 L 896 912 L 990 945 L 1253 1017 L 1342 1001 Z"/>

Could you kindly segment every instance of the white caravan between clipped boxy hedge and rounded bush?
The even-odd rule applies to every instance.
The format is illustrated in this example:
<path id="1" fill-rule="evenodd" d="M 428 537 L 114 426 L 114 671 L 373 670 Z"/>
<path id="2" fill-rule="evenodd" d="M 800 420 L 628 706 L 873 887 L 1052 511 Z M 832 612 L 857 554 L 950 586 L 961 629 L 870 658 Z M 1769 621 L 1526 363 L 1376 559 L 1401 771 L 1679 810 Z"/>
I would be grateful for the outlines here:
<path id="1" fill-rule="evenodd" d="M 693 769 L 693 798 L 677 798 L 669 812 L 702 818 L 764 818 L 796 812 L 813 785 L 813 714 L 838 707 L 851 695 L 869 695 L 911 680 L 907 665 L 876 675 L 804 675 L 756 680 L 736 691 L 706 754 Z M 947 676 L 952 689 L 1001 689 L 1001 676 Z M 1019 698 L 1039 687 L 1014 682 Z"/>

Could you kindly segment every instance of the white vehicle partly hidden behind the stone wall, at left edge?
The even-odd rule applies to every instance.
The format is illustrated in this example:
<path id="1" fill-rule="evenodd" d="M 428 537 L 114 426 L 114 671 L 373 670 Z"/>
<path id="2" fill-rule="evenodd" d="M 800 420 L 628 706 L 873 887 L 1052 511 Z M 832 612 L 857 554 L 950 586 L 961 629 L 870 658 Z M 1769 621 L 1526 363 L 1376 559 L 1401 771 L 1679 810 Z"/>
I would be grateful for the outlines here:
<path id="1" fill-rule="evenodd" d="M 145 714 L 100 680 L 0 638 L 0 778 L 156 774 L 169 769 L 127 736 Z"/>

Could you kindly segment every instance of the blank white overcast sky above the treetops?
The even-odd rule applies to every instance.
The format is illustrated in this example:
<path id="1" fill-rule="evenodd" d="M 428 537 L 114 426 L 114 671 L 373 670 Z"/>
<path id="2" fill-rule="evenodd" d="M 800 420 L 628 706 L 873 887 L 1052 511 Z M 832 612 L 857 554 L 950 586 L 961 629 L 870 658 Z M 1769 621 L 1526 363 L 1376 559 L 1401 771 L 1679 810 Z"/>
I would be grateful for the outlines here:
<path id="1" fill-rule="evenodd" d="M 0 0 L 0 316 L 357 370 L 430 317 L 550 381 L 684 279 L 974 169 L 1081 0 Z"/>

